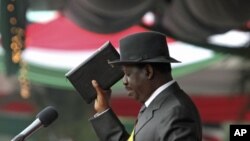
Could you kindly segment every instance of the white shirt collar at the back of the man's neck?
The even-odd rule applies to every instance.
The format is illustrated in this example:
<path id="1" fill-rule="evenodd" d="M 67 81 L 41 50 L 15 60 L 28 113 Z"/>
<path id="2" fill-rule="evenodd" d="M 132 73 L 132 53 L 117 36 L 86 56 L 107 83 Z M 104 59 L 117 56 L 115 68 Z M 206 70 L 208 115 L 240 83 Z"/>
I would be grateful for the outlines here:
<path id="1" fill-rule="evenodd" d="M 173 84 L 175 81 L 171 80 L 163 85 L 161 85 L 159 88 L 157 88 L 153 94 L 147 99 L 147 101 L 144 103 L 146 107 L 149 106 L 149 104 L 167 87 L 169 87 L 171 84 Z"/>

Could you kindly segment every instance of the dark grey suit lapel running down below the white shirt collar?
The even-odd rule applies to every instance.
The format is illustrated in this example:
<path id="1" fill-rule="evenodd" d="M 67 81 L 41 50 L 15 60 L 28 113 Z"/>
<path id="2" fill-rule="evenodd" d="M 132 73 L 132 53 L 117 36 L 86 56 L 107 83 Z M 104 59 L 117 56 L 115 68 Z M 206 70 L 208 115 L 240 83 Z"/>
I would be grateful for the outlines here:
<path id="1" fill-rule="evenodd" d="M 141 114 L 138 118 L 138 122 L 135 127 L 135 135 L 153 118 L 154 112 L 161 107 L 161 104 L 165 101 L 165 99 L 173 94 L 173 90 L 178 89 L 179 86 L 175 82 L 168 88 L 164 89 L 146 108 L 146 110 Z"/>

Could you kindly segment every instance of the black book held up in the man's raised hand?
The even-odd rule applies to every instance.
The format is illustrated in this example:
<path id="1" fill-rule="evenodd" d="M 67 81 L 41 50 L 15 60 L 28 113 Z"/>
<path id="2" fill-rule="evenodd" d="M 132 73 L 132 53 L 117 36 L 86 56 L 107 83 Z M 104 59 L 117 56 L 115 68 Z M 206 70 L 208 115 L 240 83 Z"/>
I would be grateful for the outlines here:
<path id="1" fill-rule="evenodd" d="M 96 80 L 103 89 L 110 89 L 123 77 L 121 68 L 108 64 L 120 55 L 107 41 L 87 60 L 65 74 L 77 92 L 89 104 L 96 99 L 96 91 L 91 81 Z"/>

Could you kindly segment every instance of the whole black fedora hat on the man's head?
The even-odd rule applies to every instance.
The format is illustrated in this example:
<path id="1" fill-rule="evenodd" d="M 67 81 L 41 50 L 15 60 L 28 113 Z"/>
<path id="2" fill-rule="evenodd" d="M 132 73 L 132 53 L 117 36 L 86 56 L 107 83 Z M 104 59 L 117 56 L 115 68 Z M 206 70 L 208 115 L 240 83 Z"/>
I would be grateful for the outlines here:
<path id="1" fill-rule="evenodd" d="M 166 36 L 159 32 L 141 32 L 120 40 L 120 59 L 109 64 L 179 63 L 169 56 Z"/>

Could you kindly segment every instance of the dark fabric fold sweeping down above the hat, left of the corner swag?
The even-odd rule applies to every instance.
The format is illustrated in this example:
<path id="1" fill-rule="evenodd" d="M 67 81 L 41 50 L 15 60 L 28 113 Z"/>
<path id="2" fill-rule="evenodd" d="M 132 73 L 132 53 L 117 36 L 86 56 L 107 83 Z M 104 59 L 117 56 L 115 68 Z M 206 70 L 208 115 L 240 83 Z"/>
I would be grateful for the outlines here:
<path id="1" fill-rule="evenodd" d="M 163 29 L 168 30 L 174 36 L 202 42 L 205 42 L 210 35 L 227 31 L 219 31 L 203 24 L 193 15 L 187 3 L 176 0 L 166 5 L 161 21 Z"/>

